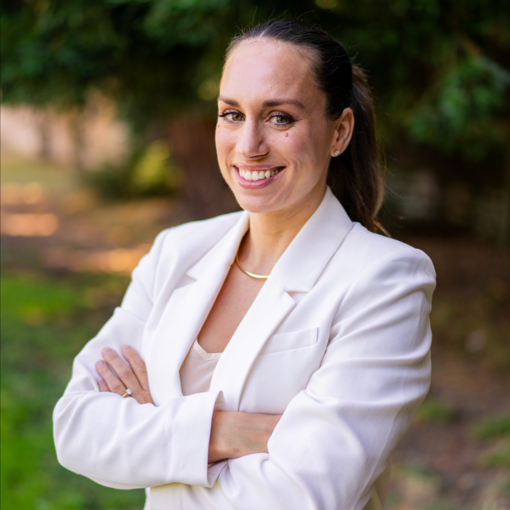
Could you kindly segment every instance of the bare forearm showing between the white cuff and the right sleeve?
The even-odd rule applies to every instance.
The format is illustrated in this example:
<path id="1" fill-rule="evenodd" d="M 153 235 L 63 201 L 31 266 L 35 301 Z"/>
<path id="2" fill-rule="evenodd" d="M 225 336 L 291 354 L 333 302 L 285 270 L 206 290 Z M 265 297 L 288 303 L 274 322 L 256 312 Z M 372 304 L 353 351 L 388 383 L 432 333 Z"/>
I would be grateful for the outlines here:
<path id="1" fill-rule="evenodd" d="M 209 440 L 209 462 L 267 453 L 267 442 L 281 414 L 214 411 Z"/>

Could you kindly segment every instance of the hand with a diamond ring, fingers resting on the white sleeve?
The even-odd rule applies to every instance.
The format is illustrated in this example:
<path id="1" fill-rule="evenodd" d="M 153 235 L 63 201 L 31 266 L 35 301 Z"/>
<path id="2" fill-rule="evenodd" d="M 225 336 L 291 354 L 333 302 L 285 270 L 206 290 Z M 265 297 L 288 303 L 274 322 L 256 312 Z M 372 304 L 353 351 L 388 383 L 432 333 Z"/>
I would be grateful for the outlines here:
<path id="1" fill-rule="evenodd" d="M 98 381 L 99 391 L 110 391 L 122 396 L 129 388 L 138 404 L 154 404 L 145 363 L 132 347 L 124 345 L 122 348 L 122 355 L 128 363 L 108 347 L 101 351 L 101 355 L 104 361 L 96 363 L 96 370 L 101 376 Z"/>

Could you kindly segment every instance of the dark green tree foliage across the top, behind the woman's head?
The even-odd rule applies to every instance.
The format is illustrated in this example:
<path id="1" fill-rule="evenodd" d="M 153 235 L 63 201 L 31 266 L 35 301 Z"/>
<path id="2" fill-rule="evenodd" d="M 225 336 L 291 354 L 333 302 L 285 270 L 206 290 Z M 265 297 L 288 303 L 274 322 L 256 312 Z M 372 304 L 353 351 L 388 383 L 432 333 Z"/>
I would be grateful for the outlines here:
<path id="1" fill-rule="evenodd" d="M 394 149 L 412 142 L 490 160 L 502 175 L 509 13 L 503 0 L 296 0 L 292 8 L 283 0 L 4 0 L 2 100 L 68 107 L 100 89 L 140 125 L 213 115 L 232 35 L 301 16 L 368 70 Z"/>

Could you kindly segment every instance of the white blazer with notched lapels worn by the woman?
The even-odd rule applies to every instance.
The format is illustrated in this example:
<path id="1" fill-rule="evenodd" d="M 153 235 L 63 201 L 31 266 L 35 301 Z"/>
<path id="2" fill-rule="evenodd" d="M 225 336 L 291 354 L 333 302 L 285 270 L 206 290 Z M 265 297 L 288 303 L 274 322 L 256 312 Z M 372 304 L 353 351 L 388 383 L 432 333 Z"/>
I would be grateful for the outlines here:
<path id="1" fill-rule="evenodd" d="M 389 455 L 430 381 L 434 269 L 352 223 L 329 189 L 217 363 L 183 396 L 179 368 L 248 228 L 238 212 L 163 231 L 113 317 L 78 354 L 54 410 L 60 462 L 103 485 L 152 487 L 151 510 L 375 510 Z M 141 352 L 155 402 L 100 393 L 110 346 Z M 207 464 L 211 417 L 283 413 L 269 453 Z"/>

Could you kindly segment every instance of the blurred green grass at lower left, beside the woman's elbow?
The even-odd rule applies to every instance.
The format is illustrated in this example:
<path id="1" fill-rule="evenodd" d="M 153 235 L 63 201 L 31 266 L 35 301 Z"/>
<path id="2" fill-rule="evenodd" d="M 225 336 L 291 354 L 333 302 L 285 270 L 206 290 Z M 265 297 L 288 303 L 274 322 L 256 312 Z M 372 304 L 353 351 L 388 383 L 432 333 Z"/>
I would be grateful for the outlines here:
<path id="1" fill-rule="evenodd" d="M 0 506 L 25 510 L 131 510 L 143 491 L 101 487 L 62 468 L 55 457 L 51 412 L 71 361 L 117 302 L 121 277 L 1 275 Z M 94 305 L 94 308 L 92 308 Z"/>

